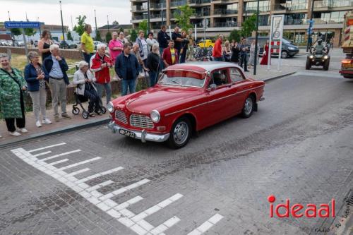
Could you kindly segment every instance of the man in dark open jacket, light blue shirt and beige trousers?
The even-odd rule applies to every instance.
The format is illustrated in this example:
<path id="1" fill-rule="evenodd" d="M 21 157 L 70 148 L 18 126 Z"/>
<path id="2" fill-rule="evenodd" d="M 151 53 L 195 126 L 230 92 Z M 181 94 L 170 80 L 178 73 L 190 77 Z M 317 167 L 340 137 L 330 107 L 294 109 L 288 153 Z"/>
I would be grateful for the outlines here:
<path id="1" fill-rule="evenodd" d="M 54 108 L 54 119 L 59 121 L 58 102 L 61 106 L 61 117 L 71 119 L 66 113 L 66 85 L 70 84 L 66 71 L 68 66 L 63 57 L 59 56 L 59 46 L 52 44 L 50 47 L 52 56 L 43 61 L 44 73 L 49 77 L 50 90 L 52 91 L 52 104 Z"/>

